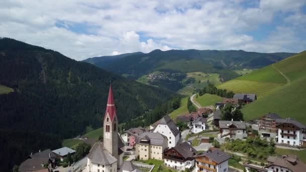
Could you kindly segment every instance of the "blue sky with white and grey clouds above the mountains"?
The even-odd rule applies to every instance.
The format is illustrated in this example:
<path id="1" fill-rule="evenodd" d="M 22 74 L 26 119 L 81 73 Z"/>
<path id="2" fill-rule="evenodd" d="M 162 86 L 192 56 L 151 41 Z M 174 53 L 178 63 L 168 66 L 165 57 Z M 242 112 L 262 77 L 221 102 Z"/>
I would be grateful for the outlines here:
<path id="1" fill-rule="evenodd" d="M 1 0 L 0 37 L 75 60 L 154 49 L 306 50 L 306 0 Z"/>

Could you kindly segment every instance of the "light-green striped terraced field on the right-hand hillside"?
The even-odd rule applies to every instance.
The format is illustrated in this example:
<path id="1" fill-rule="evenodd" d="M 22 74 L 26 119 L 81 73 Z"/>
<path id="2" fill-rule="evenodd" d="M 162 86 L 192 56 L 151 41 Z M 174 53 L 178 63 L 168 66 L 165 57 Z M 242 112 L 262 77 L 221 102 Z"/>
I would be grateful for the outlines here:
<path id="1" fill-rule="evenodd" d="M 234 93 L 254 93 L 257 95 L 257 98 L 260 99 L 268 92 L 282 85 L 282 83 L 233 79 L 217 86 L 217 88 L 233 91 Z"/>

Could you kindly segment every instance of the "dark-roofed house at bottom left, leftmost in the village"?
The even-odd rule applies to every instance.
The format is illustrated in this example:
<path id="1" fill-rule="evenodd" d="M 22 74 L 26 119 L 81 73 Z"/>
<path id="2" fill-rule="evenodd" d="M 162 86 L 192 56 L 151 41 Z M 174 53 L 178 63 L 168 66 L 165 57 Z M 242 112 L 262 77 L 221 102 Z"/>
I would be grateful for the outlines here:
<path id="1" fill-rule="evenodd" d="M 50 150 L 39 150 L 37 153 L 31 153 L 28 158 L 19 165 L 19 172 L 41 171 L 48 172 L 55 167 L 56 155 Z M 45 166 L 47 164 L 48 166 Z"/>

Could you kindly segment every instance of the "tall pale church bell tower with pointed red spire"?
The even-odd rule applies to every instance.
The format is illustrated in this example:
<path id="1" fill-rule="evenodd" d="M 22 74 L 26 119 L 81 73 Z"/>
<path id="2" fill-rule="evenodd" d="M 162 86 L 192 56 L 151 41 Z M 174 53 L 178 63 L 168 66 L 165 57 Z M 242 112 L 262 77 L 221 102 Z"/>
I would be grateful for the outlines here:
<path id="1" fill-rule="evenodd" d="M 103 120 L 103 135 L 104 148 L 118 159 L 118 119 L 111 84 Z"/>

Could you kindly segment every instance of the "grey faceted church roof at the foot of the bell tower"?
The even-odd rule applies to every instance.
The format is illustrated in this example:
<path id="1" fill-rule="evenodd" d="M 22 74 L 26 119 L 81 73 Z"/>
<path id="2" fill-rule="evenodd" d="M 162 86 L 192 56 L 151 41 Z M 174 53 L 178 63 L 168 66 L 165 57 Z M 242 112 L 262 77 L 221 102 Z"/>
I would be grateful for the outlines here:
<path id="1" fill-rule="evenodd" d="M 111 155 L 106 149 L 104 149 L 102 142 L 96 142 L 87 157 L 91 159 L 93 163 L 101 165 L 109 165 L 117 161 L 115 156 Z"/>

